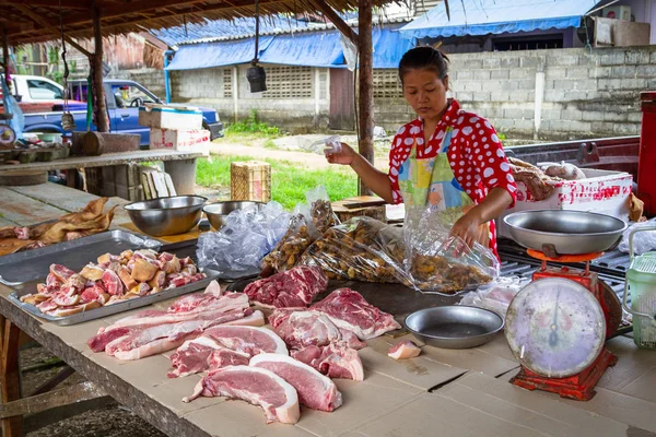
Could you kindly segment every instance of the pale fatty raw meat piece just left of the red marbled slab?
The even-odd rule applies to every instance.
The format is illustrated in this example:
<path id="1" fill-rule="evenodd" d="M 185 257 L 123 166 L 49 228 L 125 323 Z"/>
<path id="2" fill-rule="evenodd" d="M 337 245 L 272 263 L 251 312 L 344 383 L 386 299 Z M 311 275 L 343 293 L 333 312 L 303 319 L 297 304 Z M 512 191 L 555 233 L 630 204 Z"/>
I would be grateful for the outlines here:
<path id="1" fill-rule="evenodd" d="M 344 342 L 356 350 L 366 346 L 352 331 L 339 329 L 319 311 L 285 312 L 274 316 L 274 320 L 273 330 L 291 349 L 325 346 L 335 342 Z"/>

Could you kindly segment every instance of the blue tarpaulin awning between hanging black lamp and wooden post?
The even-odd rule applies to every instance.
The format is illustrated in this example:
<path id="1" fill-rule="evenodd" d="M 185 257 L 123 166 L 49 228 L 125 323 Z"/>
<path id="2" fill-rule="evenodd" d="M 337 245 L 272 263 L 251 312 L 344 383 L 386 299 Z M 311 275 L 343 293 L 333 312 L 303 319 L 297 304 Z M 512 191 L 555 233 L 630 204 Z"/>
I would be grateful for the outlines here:
<path id="1" fill-rule="evenodd" d="M 260 61 L 304 67 L 343 67 L 339 32 L 277 35 L 263 50 Z"/>

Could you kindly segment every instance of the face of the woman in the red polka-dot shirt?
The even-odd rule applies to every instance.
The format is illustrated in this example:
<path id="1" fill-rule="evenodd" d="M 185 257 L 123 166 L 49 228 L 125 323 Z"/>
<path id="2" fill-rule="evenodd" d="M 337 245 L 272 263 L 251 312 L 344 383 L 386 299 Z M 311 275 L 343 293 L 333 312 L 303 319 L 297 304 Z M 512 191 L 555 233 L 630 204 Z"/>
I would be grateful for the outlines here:
<path id="1" fill-rule="evenodd" d="M 432 70 L 410 70 L 403 75 L 403 97 L 423 119 L 440 119 L 447 90 L 448 75 L 440 79 Z"/>

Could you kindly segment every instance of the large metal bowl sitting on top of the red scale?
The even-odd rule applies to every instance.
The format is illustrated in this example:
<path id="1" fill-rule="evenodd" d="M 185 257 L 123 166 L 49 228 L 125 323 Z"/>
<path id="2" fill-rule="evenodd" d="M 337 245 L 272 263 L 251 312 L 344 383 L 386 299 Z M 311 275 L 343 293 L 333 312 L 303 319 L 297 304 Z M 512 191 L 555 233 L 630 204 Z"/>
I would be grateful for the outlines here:
<path id="1" fill-rule="evenodd" d="M 519 245 L 557 255 L 602 252 L 622 238 L 626 223 L 610 215 L 585 211 L 523 211 L 504 218 L 511 236 Z"/>

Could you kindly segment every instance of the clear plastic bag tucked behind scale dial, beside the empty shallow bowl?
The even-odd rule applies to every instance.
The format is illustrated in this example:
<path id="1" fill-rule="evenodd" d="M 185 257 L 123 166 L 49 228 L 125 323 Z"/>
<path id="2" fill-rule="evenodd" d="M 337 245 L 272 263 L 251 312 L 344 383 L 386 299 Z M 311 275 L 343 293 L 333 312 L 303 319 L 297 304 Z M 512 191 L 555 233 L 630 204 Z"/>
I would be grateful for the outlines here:
<path id="1" fill-rule="evenodd" d="M 511 302 L 529 282 L 529 279 L 518 276 L 497 277 L 489 284 L 481 285 L 476 292 L 467 293 L 456 305 L 489 309 L 505 318 Z"/>

